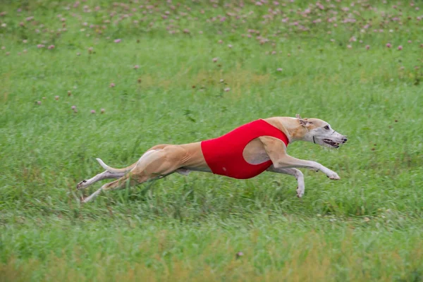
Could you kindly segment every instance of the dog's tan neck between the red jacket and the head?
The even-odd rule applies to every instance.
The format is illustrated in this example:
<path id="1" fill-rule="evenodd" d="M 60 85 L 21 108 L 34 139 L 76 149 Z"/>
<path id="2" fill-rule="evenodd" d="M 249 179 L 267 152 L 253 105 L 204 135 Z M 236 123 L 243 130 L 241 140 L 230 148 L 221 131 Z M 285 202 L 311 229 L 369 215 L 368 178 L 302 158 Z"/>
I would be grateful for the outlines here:
<path id="1" fill-rule="evenodd" d="M 290 143 L 304 140 L 307 129 L 300 125 L 298 118 L 290 118 L 286 116 L 278 116 L 274 118 L 265 118 L 264 121 L 274 125 L 278 130 L 285 133 Z"/>

